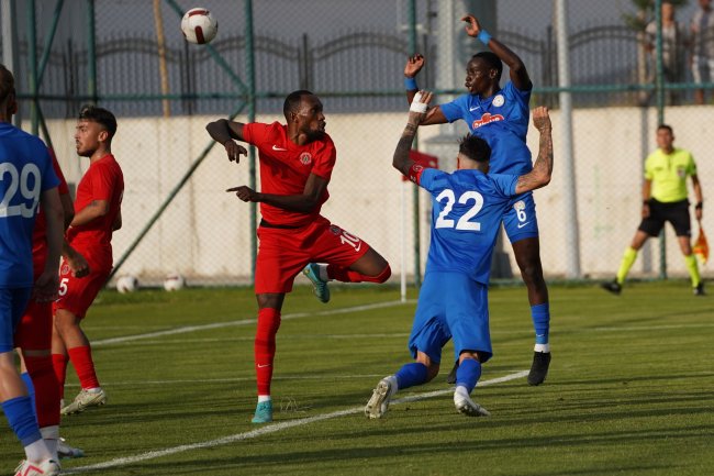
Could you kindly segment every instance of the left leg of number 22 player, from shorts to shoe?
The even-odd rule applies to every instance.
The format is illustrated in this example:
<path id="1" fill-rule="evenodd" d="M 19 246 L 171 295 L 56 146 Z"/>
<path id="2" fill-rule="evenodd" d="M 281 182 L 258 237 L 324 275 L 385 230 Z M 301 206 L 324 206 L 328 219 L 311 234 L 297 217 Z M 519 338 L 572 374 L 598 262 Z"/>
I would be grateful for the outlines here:
<path id="1" fill-rule="evenodd" d="M 409 350 L 415 362 L 379 380 L 365 406 L 367 418 L 382 418 L 398 390 L 426 384 L 438 375 L 442 347 L 450 339 L 443 319 L 447 303 L 442 289 L 438 279 L 429 276 L 424 279 L 409 339 Z"/>

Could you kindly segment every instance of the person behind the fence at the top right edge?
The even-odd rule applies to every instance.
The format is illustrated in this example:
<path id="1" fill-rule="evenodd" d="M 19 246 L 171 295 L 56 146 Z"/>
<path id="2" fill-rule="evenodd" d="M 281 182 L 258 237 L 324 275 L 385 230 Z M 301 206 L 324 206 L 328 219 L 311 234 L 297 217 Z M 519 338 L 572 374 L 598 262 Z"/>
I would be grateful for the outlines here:
<path id="1" fill-rule="evenodd" d="M 714 80 L 714 12 L 712 0 L 699 0 L 699 10 L 692 16 L 692 77 L 694 82 Z M 704 89 L 694 91 L 694 102 L 704 103 Z"/>

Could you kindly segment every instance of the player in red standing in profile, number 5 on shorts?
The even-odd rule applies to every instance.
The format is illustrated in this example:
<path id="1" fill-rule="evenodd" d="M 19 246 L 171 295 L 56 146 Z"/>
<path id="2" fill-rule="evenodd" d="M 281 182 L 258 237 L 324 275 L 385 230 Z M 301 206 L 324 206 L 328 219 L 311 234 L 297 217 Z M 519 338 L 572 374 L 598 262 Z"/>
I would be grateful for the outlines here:
<path id="1" fill-rule="evenodd" d="M 81 253 L 91 273 L 74 276 L 67 259 L 59 266 L 59 298 L 54 305 L 55 328 L 52 357 L 64 392 L 67 357 L 72 363 L 81 391 L 62 409 L 62 414 L 103 405 L 107 395 L 99 385 L 89 340 L 79 326 L 112 269 L 112 232 L 122 225 L 121 202 L 124 177 L 111 152 L 116 119 L 110 111 L 93 106 L 79 112 L 75 142 L 77 154 L 89 157 L 89 169 L 77 187 L 75 218 L 67 230 L 67 242 Z"/>

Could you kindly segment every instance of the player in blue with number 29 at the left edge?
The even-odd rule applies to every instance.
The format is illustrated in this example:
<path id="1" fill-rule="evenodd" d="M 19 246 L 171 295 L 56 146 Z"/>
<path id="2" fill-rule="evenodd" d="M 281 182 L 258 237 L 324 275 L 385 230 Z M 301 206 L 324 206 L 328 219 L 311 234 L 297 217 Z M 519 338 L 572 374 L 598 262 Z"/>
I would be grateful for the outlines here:
<path id="1" fill-rule="evenodd" d="M 0 405 L 25 450 L 15 473 L 56 475 L 59 465 L 42 439 L 15 367 L 13 334 L 31 297 L 45 302 L 57 297 L 64 217 L 47 147 L 11 124 L 16 110 L 14 77 L 0 65 Z M 47 220 L 48 255 L 33 281 L 32 230 L 38 204 Z"/>

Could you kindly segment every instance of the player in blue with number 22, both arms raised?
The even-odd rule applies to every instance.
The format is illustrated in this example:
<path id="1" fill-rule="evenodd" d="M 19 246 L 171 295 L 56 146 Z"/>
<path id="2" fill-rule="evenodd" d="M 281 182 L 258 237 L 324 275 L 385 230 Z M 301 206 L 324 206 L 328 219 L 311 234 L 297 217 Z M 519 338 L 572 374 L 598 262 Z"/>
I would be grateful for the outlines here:
<path id="1" fill-rule="evenodd" d="M 365 407 L 368 418 L 381 418 L 397 390 L 436 377 L 442 348 L 450 339 L 458 363 L 456 409 L 469 417 L 489 414 L 471 400 L 470 394 L 481 376 L 481 364 L 493 355 L 488 306 L 491 255 L 512 197 L 547 185 L 553 171 L 547 108 L 533 111 L 540 145 L 538 158 L 527 174 L 490 174 L 491 148 L 476 134 L 461 140 L 458 169 L 451 174 L 414 163 L 409 151 L 421 121 L 428 117 L 425 111 L 431 98 L 429 92 L 414 98 L 392 162 L 394 168 L 432 195 L 432 240 L 409 339 L 409 350 L 416 362 L 377 384 Z"/>

